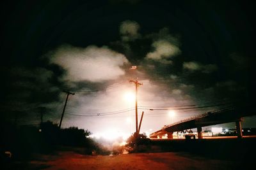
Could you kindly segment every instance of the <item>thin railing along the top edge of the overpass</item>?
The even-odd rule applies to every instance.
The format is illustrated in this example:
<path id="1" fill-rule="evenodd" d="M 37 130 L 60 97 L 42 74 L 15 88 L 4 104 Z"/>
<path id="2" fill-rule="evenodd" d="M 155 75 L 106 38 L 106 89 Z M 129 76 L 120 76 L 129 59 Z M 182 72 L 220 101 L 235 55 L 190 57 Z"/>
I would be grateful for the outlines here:
<path id="1" fill-rule="evenodd" d="M 177 125 L 177 124 L 181 124 L 183 122 L 188 122 L 190 120 L 195 120 L 197 118 L 203 118 L 203 117 L 207 117 L 209 115 L 212 115 L 212 114 L 216 114 L 216 113 L 221 113 L 223 111 L 230 111 L 230 110 L 234 110 L 234 107 L 233 106 L 228 106 L 226 108 L 220 108 L 218 110 L 214 110 L 214 111 L 207 111 L 205 113 L 202 113 L 200 115 L 195 115 L 193 117 L 189 117 L 189 118 L 185 118 L 183 120 L 180 120 L 179 122 L 175 122 L 173 124 L 169 124 L 169 125 L 164 125 L 164 127 L 162 127 L 162 129 L 166 128 L 166 127 L 170 127 L 170 126 L 173 126 L 173 125 Z"/>

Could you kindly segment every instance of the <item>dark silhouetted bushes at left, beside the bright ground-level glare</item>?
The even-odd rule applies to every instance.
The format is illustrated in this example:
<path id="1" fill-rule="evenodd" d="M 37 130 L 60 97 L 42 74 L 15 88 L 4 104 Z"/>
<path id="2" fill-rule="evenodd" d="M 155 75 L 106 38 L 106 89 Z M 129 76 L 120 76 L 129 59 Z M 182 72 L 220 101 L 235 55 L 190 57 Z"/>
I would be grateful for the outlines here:
<path id="1" fill-rule="evenodd" d="M 111 151 L 89 138 L 90 131 L 68 127 L 60 129 L 57 124 L 44 122 L 39 127 L 1 124 L 1 160 L 4 152 L 12 153 L 12 159 L 31 159 L 34 153 L 53 154 L 71 150 L 84 155 L 95 153 L 108 155 Z"/>

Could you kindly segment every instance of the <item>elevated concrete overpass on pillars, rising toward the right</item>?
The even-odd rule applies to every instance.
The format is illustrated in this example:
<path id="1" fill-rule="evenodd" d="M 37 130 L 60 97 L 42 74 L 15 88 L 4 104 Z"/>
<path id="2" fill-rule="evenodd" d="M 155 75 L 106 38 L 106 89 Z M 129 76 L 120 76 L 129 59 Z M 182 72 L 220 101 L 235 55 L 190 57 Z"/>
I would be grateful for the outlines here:
<path id="1" fill-rule="evenodd" d="M 243 104 L 242 106 L 230 106 L 228 108 L 221 108 L 220 110 L 209 111 L 175 122 L 174 124 L 164 125 L 159 131 L 150 134 L 150 138 L 163 138 L 167 134 L 168 138 L 172 139 L 173 132 L 196 128 L 198 139 L 202 139 L 202 127 L 229 122 L 236 122 L 237 137 L 242 138 L 241 121 L 243 121 L 243 117 L 256 115 L 256 111 L 252 110 L 252 108 L 252 104 Z"/>

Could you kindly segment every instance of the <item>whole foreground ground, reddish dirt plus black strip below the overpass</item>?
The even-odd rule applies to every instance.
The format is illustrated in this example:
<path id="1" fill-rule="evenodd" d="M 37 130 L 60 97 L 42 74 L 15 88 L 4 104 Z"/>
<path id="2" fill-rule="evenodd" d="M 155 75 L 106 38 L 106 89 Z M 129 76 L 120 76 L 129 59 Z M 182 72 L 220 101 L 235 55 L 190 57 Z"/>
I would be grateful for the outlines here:
<path id="1" fill-rule="evenodd" d="M 58 151 L 11 160 L 6 169 L 255 169 L 255 138 L 151 141 L 147 153 L 83 155 Z"/>

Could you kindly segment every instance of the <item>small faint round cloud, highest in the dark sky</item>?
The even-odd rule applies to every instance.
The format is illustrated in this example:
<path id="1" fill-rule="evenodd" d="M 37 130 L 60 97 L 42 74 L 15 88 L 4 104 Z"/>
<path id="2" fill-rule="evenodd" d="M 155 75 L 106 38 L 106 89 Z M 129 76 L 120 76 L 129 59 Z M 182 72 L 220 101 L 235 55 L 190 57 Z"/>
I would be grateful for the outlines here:
<path id="1" fill-rule="evenodd" d="M 125 20 L 120 25 L 120 34 L 123 41 L 133 41 L 134 39 L 140 38 L 138 30 L 140 25 L 131 20 Z"/>

